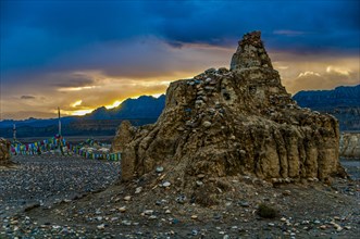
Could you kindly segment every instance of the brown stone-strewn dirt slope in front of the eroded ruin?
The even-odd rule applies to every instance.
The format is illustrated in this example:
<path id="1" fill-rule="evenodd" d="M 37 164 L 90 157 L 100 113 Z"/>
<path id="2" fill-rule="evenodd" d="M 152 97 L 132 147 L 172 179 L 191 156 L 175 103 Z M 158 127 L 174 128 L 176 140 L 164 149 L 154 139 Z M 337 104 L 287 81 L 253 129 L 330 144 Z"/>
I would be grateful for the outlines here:
<path id="1" fill-rule="evenodd" d="M 82 159 L 77 159 L 82 160 Z M 352 161 L 352 175 L 359 166 Z M 80 168 L 79 168 L 80 169 Z M 251 176 L 214 179 L 215 204 L 200 205 L 162 173 L 126 185 L 82 192 L 55 204 L 33 205 L 2 217 L 0 238 L 358 238 L 359 178 L 266 183 Z M 207 197 L 207 183 L 195 187 Z M 199 194 L 196 196 L 199 198 Z M 260 204 L 276 211 L 258 214 Z"/>

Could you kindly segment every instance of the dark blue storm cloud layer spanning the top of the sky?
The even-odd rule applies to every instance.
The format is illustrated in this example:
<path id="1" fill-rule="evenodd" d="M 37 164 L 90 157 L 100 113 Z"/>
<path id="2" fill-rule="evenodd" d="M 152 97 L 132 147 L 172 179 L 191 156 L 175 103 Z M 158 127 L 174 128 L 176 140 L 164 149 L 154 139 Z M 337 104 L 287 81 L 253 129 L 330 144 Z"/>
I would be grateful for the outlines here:
<path id="1" fill-rule="evenodd" d="M 359 49 L 359 8 L 356 0 L 3 0 L 1 70 L 44 67 L 64 52 L 149 35 L 175 48 L 233 46 L 244 33 L 260 29 L 275 49 Z"/>

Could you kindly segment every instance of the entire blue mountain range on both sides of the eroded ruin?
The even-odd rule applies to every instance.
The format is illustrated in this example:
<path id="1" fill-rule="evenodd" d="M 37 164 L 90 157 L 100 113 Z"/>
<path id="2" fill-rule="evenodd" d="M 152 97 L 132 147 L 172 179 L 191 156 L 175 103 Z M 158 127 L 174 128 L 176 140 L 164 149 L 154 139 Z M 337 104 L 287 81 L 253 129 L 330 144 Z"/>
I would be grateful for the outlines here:
<path id="1" fill-rule="evenodd" d="M 360 85 L 299 91 L 293 99 L 302 108 L 334 115 L 339 121 L 342 131 L 360 131 Z M 117 108 L 108 110 L 101 106 L 84 116 L 65 116 L 61 118 L 62 135 L 112 136 L 124 120 L 136 126 L 154 123 L 164 105 L 164 95 L 159 98 L 141 96 L 127 99 Z M 13 124 L 16 124 L 18 138 L 51 137 L 58 133 L 58 118 L 5 120 L 0 122 L 0 136 L 12 138 Z"/>

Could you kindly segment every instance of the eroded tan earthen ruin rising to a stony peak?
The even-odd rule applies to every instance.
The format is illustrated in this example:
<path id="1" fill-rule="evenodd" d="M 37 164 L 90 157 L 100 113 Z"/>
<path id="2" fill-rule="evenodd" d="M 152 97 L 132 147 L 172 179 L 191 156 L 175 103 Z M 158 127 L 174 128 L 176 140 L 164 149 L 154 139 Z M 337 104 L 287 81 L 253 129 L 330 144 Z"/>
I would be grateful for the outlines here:
<path id="1" fill-rule="evenodd" d="M 291 100 L 255 32 L 239 41 L 231 71 L 210 68 L 170 85 L 158 122 L 122 146 L 122 179 L 162 165 L 184 187 L 198 175 L 326 180 L 342 172 L 338 137 L 335 117 Z"/>

